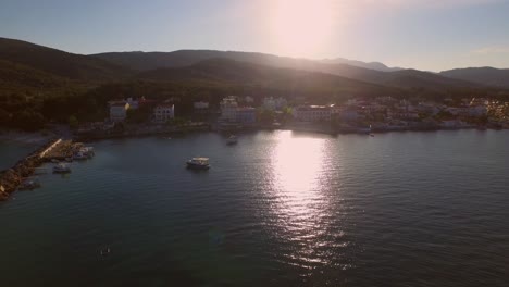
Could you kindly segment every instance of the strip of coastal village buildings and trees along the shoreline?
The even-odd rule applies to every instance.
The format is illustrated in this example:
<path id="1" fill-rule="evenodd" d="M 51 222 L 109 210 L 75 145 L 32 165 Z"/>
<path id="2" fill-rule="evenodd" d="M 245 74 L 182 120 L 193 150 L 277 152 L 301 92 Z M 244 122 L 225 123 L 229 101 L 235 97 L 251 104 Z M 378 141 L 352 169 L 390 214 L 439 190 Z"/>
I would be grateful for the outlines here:
<path id="1" fill-rule="evenodd" d="M 266 124 L 266 118 L 278 122 L 277 115 L 283 114 L 281 110 L 288 105 L 284 97 L 260 98 L 258 108 L 248 104 L 250 100 L 250 97 L 223 98 L 220 102 L 219 125 L 234 128 L 254 126 L 259 114 L 262 116 L 260 124 Z M 149 109 L 129 113 L 129 116 L 134 118 L 133 123 L 139 123 L 137 121 L 142 115 L 141 113 L 147 113 L 147 123 L 148 118 L 152 118 L 151 122 L 154 124 L 166 123 L 175 116 L 174 102 L 170 100 L 148 101 L 145 98 L 127 98 L 109 102 L 110 117 L 102 127 L 100 123 L 92 123 L 80 126 L 79 132 L 107 130 L 107 124 L 115 126 L 115 123 L 126 120 L 128 110 L 136 110 L 144 105 Z M 208 101 L 197 101 L 191 107 L 187 113 L 182 114 L 183 120 L 186 120 L 186 116 L 196 122 L 216 118 L 214 115 L 218 115 L 218 111 L 212 110 Z M 334 127 L 337 130 L 347 132 L 364 130 L 370 126 L 372 130 L 509 127 L 509 102 L 485 98 L 447 100 L 430 100 L 419 97 L 351 98 L 339 104 L 302 104 L 288 108 L 290 108 L 288 111 L 291 111 L 294 124 L 297 124 L 295 126 L 299 126 L 300 123 L 308 125 L 306 127 Z M 291 124 L 288 118 L 282 123 Z"/>

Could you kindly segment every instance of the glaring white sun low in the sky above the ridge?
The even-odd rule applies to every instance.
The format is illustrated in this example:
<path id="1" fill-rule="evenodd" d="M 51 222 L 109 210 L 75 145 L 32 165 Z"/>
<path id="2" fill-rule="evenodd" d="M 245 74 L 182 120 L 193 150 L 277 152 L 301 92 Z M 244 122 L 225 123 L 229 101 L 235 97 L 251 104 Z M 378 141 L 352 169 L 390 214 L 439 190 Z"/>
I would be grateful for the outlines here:
<path id="1" fill-rule="evenodd" d="M 269 29 L 272 45 L 285 55 L 313 57 L 333 32 L 333 0 L 275 0 Z"/>

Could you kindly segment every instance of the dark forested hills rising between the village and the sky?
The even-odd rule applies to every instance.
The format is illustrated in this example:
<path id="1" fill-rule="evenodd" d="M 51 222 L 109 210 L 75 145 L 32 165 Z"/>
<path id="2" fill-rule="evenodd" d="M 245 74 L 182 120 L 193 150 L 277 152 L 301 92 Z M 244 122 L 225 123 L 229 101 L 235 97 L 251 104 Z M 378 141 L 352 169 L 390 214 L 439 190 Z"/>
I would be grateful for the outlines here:
<path id="1" fill-rule="evenodd" d="M 186 115 L 193 101 L 206 100 L 216 107 L 226 95 L 282 96 L 310 103 L 350 97 L 508 95 L 505 89 L 447 76 L 210 50 L 82 55 L 0 38 L 0 126 L 38 129 L 49 122 L 66 123 L 71 116 L 102 121 L 108 116 L 109 100 L 141 96 L 177 98 L 177 113 Z"/>

